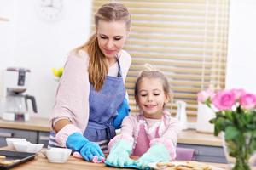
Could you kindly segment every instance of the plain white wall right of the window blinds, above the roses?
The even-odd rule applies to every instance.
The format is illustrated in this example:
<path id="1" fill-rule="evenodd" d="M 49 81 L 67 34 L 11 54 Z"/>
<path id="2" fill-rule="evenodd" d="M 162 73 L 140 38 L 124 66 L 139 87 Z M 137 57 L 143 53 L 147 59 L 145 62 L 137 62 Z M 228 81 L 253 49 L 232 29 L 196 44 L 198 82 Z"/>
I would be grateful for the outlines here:
<path id="1" fill-rule="evenodd" d="M 230 0 L 227 88 L 256 93 L 256 1 Z"/>

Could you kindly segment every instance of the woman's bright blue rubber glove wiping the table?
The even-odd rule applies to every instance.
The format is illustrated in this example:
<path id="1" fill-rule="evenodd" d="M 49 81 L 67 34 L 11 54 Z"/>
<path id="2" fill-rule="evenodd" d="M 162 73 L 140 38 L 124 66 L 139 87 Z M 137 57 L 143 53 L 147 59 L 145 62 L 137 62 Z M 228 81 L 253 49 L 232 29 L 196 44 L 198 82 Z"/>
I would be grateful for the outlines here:
<path id="1" fill-rule="evenodd" d="M 94 156 L 98 157 L 98 161 L 105 158 L 99 144 L 90 142 L 81 133 L 73 133 L 68 136 L 66 142 L 67 148 L 78 151 L 86 161 L 92 161 Z"/>

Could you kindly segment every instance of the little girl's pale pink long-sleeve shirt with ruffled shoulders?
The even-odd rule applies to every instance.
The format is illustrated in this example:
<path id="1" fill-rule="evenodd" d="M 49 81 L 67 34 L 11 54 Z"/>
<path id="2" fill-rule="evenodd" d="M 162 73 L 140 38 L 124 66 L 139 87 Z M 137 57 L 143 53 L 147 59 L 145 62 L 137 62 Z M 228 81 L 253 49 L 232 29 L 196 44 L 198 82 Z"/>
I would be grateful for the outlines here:
<path id="1" fill-rule="evenodd" d="M 137 152 L 136 145 L 141 125 L 145 128 L 144 132 L 147 133 L 148 140 L 140 141 L 141 145 L 139 147 L 147 147 L 147 145 L 151 146 L 157 143 L 164 144 L 166 149 L 169 150 L 171 159 L 175 159 L 177 136 L 182 128 L 181 123 L 170 116 L 168 111 L 163 111 L 163 116 L 159 121 L 147 119 L 142 114 L 125 117 L 122 122 L 121 133 L 109 142 L 108 151 L 119 140 L 126 140 L 133 144 L 131 155 Z M 149 144 L 145 144 L 147 141 L 149 141 Z M 145 150 L 148 150 L 148 148 L 145 148 Z"/>

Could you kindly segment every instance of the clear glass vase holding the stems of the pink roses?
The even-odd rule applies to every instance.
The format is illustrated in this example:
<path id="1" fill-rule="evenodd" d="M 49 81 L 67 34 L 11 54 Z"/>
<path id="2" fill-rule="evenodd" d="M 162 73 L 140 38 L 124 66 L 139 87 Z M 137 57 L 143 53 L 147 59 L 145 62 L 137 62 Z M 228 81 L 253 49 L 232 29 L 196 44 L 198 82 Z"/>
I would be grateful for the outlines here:
<path id="1" fill-rule="evenodd" d="M 248 139 L 244 139 L 248 141 Z M 225 141 L 224 133 L 222 133 L 222 143 L 224 148 L 224 156 L 232 170 L 251 170 L 253 166 L 256 166 L 256 150 L 252 154 L 248 154 L 247 146 L 235 144 L 232 141 Z M 247 143 L 247 142 L 246 142 Z M 234 147 L 239 154 L 232 156 L 232 151 L 234 154 Z M 231 151 L 232 150 L 232 151 Z M 240 151 L 239 151 L 240 150 Z"/>

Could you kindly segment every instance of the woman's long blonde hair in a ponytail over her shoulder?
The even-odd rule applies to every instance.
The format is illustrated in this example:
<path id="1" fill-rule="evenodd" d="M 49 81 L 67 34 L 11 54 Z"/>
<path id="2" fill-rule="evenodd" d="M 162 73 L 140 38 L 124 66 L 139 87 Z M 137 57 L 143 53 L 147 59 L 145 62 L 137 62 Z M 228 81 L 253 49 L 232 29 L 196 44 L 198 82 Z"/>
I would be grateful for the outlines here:
<path id="1" fill-rule="evenodd" d="M 131 15 L 128 9 L 121 3 L 106 3 L 99 8 L 94 16 L 95 26 L 97 29 L 99 20 L 108 22 L 125 21 L 126 29 L 129 31 L 131 27 Z M 89 81 L 92 86 L 99 91 L 102 89 L 103 82 L 108 75 L 108 62 L 102 53 L 96 33 L 94 33 L 88 42 L 76 50 L 86 50 L 89 54 Z"/>

